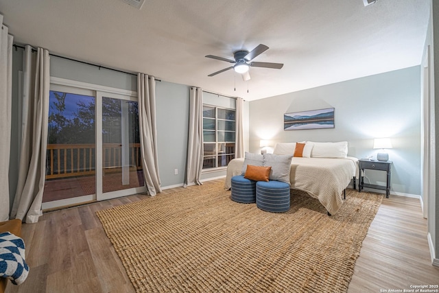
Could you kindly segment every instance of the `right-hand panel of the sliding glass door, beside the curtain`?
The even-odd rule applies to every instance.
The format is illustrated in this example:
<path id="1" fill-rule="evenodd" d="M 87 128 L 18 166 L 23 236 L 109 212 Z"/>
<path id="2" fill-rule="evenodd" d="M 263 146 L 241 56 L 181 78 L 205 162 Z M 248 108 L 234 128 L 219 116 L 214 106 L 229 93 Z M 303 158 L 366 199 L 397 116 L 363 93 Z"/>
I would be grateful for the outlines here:
<path id="1" fill-rule="evenodd" d="M 102 99 L 102 192 L 97 199 L 144 191 L 137 101 L 108 93 L 97 96 Z"/>

